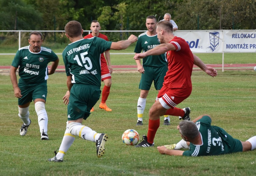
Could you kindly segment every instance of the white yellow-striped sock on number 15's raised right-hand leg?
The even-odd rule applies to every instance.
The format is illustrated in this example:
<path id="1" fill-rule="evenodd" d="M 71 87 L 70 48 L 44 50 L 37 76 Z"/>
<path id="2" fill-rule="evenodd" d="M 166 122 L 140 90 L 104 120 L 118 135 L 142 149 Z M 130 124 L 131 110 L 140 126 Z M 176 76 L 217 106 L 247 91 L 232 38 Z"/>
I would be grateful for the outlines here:
<path id="1" fill-rule="evenodd" d="M 99 139 L 100 134 L 93 131 L 91 128 L 82 125 L 78 122 L 69 123 L 69 131 L 72 135 L 78 136 L 82 139 L 96 142 Z"/>

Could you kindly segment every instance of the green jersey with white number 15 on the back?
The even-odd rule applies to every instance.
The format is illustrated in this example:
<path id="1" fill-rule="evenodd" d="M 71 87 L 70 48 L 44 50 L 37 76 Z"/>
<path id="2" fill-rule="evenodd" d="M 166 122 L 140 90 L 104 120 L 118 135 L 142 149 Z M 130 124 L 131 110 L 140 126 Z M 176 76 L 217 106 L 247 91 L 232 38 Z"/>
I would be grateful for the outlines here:
<path id="1" fill-rule="evenodd" d="M 73 84 L 101 86 L 100 55 L 109 50 L 112 42 L 99 37 L 70 43 L 62 52 L 66 75 Z"/>

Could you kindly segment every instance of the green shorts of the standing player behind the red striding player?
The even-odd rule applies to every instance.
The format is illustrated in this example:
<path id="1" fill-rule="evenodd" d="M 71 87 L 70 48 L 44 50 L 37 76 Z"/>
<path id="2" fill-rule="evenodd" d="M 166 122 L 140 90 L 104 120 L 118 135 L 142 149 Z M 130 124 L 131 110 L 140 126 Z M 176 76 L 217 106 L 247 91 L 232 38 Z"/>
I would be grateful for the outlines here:
<path id="1" fill-rule="evenodd" d="M 141 74 L 139 89 L 149 90 L 152 82 L 156 90 L 160 90 L 163 86 L 163 79 L 167 72 L 167 65 L 161 67 L 143 66 L 145 72 Z"/>

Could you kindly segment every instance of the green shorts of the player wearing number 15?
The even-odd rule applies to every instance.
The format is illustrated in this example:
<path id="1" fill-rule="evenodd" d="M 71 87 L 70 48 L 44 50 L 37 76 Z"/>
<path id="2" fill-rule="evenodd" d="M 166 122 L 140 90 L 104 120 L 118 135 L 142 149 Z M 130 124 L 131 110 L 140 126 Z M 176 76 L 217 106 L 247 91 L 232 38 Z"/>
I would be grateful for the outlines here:
<path id="1" fill-rule="evenodd" d="M 86 84 L 73 84 L 68 104 L 68 120 L 84 120 L 100 97 L 100 87 Z"/>

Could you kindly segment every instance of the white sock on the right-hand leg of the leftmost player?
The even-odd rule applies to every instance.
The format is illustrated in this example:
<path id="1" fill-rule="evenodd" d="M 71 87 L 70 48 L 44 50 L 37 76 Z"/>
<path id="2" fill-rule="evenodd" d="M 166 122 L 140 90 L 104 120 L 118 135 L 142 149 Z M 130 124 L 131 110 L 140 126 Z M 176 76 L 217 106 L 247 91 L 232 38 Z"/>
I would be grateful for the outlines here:
<path id="1" fill-rule="evenodd" d="M 42 101 L 35 102 L 35 112 L 38 116 L 38 125 L 42 135 L 44 131 L 47 134 L 48 116 L 45 110 L 45 104 Z"/>

